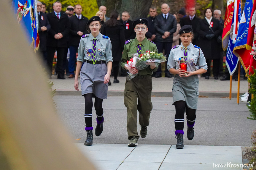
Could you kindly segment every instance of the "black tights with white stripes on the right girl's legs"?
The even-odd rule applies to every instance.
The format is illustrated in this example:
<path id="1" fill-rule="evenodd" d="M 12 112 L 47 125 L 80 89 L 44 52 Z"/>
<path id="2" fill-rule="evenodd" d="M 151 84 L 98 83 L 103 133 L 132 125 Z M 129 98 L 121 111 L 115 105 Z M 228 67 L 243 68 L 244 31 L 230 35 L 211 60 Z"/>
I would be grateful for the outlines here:
<path id="1" fill-rule="evenodd" d="M 174 106 L 176 111 L 174 117 L 175 130 L 183 130 L 185 110 L 187 115 L 187 123 L 190 125 L 195 123 L 195 109 L 188 108 L 185 101 L 181 100 L 174 102 Z"/>

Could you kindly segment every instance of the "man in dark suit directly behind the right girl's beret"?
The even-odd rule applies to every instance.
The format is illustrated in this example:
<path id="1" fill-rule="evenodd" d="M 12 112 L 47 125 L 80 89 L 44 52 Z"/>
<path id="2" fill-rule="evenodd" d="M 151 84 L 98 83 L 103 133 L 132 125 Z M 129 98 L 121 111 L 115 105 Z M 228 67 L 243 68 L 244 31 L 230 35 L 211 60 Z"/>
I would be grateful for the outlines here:
<path id="1" fill-rule="evenodd" d="M 196 28 L 200 19 L 195 16 L 195 12 L 195 7 L 190 7 L 188 10 L 188 16 L 181 18 L 179 24 L 180 27 L 183 27 L 184 25 L 192 26 L 194 33 L 194 40 L 192 41 L 192 43 L 198 46 L 198 33 L 196 32 Z"/>

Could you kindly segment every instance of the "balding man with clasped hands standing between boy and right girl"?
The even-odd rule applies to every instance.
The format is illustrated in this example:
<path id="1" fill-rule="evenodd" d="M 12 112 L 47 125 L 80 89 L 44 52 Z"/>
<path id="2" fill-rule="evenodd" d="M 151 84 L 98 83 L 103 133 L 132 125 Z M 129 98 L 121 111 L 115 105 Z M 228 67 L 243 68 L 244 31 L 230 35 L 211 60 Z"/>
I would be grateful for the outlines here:
<path id="1" fill-rule="evenodd" d="M 170 7 L 168 4 L 161 5 L 162 14 L 159 14 L 155 17 L 155 30 L 156 30 L 156 39 L 155 44 L 157 46 L 158 52 L 163 52 L 163 49 L 166 54 L 166 59 L 171 51 L 173 33 L 177 29 L 177 21 L 175 17 L 169 13 Z M 165 77 L 171 77 L 167 69 L 167 61 L 165 66 Z M 159 65 L 155 77 L 162 77 L 161 64 Z"/>

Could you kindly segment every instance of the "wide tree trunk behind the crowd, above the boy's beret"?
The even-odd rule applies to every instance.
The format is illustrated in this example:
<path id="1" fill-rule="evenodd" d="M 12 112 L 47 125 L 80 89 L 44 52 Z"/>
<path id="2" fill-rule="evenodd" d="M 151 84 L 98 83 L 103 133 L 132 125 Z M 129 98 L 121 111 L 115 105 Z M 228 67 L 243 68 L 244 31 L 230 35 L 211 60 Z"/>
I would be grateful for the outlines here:
<path id="1" fill-rule="evenodd" d="M 138 17 L 147 17 L 152 0 L 97 0 L 97 4 L 98 7 L 106 6 L 107 17 L 112 11 L 117 11 L 120 15 L 123 11 L 129 11 L 130 20 L 135 20 Z"/>

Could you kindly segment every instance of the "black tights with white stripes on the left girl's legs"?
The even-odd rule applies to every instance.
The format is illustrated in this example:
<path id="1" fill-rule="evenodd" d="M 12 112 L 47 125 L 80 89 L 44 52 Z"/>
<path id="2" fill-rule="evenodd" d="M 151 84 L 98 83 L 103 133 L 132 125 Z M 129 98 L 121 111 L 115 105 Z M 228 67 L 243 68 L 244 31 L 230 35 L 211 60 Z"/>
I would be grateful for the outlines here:
<path id="1" fill-rule="evenodd" d="M 85 126 L 92 127 L 93 93 L 85 94 L 84 97 L 85 97 Z M 94 108 L 96 110 L 98 121 L 101 121 L 103 119 L 102 102 L 103 102 L 103 99 L 97 98 L 95 96 Z"/>

